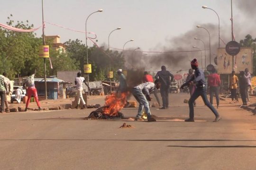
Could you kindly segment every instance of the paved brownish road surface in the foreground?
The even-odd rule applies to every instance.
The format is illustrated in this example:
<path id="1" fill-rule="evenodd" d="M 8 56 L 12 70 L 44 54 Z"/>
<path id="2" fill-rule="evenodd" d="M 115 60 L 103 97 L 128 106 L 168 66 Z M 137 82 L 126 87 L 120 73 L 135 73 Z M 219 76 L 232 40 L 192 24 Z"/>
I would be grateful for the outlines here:
<path id="1" fill-rule="evenodd" d="M 1 170 L 255 170 L 256 117 L 222 102 L 220 122 L 172 94 L 157 122 L 83 120 L 92 109 L 0 115 Z M 134 117 L 136 108 L 122 110 Z M 161 119 L 162 118 L 162 119 Z M 165 118 L 165 119 L 163 119 Z M 120 129 L 124 122 L 135 128 Z"/>

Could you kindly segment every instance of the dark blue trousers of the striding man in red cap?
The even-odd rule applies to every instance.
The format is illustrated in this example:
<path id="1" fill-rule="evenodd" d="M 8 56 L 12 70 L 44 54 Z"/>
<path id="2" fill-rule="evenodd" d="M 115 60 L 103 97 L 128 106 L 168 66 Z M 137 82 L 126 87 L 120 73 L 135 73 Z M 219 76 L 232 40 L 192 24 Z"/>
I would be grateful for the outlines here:
<path id="1" fill-rule="evenodd" d="M 219 117 L 219 113 L 214 107 L 210 104 L 210 102 L 207 99 L 207 93 L 205 87 L 196 87 L 195 92 L 192 94 L 192 96 L 189 99 L 189 118 L 194 118 L 194 106 L 193 102 L 199 97 L 202 97 L 203 102 L 209 109 L 214 113 L 215 117 Z"/>

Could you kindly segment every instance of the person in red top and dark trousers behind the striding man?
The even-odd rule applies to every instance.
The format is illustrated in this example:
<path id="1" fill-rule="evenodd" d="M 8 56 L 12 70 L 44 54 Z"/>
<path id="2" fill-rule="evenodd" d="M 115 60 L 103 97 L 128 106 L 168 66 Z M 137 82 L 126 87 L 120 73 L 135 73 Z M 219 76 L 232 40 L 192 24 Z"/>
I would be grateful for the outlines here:
<path id="1" fill-rule="evenodd" d="M 210 103 L 211 104 L 213 103 L 212 102 L 213 94 L 215 94 L 217 108 L 219 108 L 219 86 L 220 86 L 220 77 L 216 73 L 216 69 L 214 68 L 211 71 L 211 74 L 208 76 L 207 88 L 208 88 L 208 91 L 210 92 Z"/>

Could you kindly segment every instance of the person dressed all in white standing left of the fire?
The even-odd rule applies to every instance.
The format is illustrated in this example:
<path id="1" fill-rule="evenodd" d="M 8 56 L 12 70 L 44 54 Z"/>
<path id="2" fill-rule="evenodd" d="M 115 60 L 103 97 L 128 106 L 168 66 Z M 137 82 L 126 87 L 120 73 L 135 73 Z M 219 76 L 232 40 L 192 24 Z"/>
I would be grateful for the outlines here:
<path id="1" fill-rule="evenodd" d="M 86 103 L 84 102 L 82 97 L 82 91 L 83 91 L 82 83 L 84 83 L 88 87 L 88 92 L 90 92 L 89 85 L 87 85 L 87 83 L 85 82 L 85 79 L 84 77 L 82 77 L 82 74 L 78 72 L 77 77 L 75 78 L 75 85 L 77 90 L 77 106 L 75 107 L 76 109 L 78 109 L 80 101 L 82 101 L 83 108 L 86 109 Z"/>

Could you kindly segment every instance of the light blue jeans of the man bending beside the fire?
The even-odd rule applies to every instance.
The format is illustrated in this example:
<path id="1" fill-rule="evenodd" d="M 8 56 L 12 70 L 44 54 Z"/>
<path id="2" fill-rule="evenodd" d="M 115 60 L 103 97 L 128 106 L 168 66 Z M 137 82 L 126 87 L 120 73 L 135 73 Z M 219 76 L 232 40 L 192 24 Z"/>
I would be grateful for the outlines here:
<path id="1" fill-rule="evenodd" d="M 139 103 L 139 108 L 138 108 L 138 113 L 137 113 L 136 118 L 141 118 L 143 108 L 146 112 L 147 118 L 150 118 L 151 113 L 149 110 L 149 104 L 146 100 L 146 96 L 142 93 L 142 90 L 134 88 L 134 89 L 132 89 L 132 94 L 134 95 L 135 99 Z"/>

